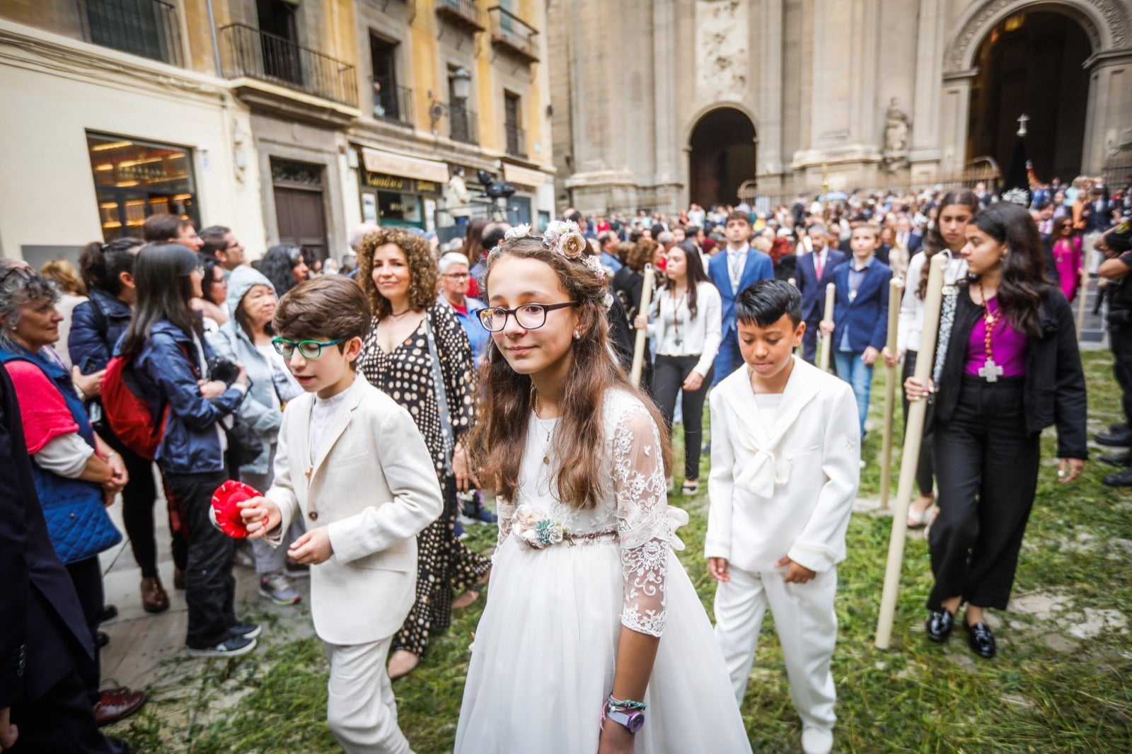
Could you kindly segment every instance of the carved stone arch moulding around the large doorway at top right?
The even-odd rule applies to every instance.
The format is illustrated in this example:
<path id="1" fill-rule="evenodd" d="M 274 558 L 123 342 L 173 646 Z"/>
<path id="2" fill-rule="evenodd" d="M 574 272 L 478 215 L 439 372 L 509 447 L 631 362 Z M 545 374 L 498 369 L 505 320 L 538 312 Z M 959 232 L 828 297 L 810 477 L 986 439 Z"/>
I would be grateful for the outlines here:
<path id="1" fill-rule="evenodd" d="M 960 24 L 959 33 L 947 45 L 944 71 L 962 70 L 970 65 L 975 45 L 983 41 L 997 20 L 1034 5 L 1027 0 L 985 0 L 978 5 Z M 1132 44 L 1132 19 L 1121 0 L 1061 0 L 1057 5 L 1081 24 L 1094 51 L 1106 44 L 1115 49 Z M 1097 25 L 1100 19 L 1104 31 Z"/>

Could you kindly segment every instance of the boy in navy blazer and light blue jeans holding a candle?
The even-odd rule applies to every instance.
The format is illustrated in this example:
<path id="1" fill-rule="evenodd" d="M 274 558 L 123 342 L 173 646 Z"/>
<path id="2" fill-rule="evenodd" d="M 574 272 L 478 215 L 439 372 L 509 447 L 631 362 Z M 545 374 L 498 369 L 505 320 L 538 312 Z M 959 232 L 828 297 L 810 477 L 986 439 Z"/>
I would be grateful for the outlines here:
<path id="1" fill-rule="evenodd" d="M 874 256 L 881 245 L 876 225 L 857 223 L 849 237 L 852 258 L 833 271 L 838 295 L 833 326 L 822 323 L 822 333 L 833 335 L 833 359 L 838 376 L 852 386 L 865 436 L 868 394 L 873 384 L 873 363 L 889 335 L 889 281 L 892 269 Z"/>

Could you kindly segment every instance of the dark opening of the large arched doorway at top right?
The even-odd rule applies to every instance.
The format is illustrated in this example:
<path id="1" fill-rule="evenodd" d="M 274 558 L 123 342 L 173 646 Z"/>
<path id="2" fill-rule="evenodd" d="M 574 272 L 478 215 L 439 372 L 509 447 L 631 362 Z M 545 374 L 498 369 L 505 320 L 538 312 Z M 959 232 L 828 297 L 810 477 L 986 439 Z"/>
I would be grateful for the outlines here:
<path id="1" fill-rule="evenodd" d="M 1005 170 L 1018 118 L 1026 113 L 1026 152 L 1041 182 L 1069 182 L 1081 171 L 1091 53 L 1084 31 L 1056 12 L 1011 16 L 979 46 L 971 88 L 967 160 L 990 156 Z"/>

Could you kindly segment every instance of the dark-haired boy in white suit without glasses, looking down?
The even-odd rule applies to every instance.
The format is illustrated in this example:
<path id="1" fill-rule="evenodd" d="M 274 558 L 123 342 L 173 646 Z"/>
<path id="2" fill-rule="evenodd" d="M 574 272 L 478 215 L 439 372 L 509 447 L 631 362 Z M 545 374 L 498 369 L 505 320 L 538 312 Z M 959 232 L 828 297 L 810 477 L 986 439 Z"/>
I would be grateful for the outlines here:
<path id="1" fill-rule="evenodd" d="M 735 306 L 746 367 L 711 394 L 715 637 L 741 703 L 770 605 L 803 751 L 823 754 L 837 719 L 837 564 L 860 478 L 857 404 L 847 383 L 794 358 L 806 331 L 797 289 L 762 281 Z"/>

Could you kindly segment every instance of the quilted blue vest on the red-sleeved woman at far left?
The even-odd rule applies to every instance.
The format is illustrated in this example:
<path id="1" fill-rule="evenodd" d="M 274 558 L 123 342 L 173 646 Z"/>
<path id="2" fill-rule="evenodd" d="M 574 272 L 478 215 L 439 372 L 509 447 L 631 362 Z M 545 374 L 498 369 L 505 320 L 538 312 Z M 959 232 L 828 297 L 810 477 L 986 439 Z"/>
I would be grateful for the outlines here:
<path id="1" fill-rule="evenodd" d="M 95 447 L 94 429 L 67 370 L 40 353 L 25 349 L 0 349 L 0 363 L 15 360 L 33 363 L 46 375 L 70 409 L 71 417 L 78 425 L 79 436 L 91 447 Z M 114 528 L 102 505 L 102 488 L 97 483 L 67 479 L 41 469 L 35 456 L 32 456 L 32 473 L 35 477 L 35 491 L 43 506 L 43 516 L 48 521 L 51 545 L 60 560 L 65 564 L 78 563 L 122 541 L 121 532 Z"/>

